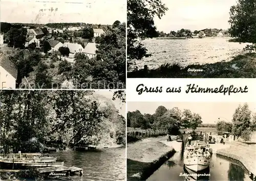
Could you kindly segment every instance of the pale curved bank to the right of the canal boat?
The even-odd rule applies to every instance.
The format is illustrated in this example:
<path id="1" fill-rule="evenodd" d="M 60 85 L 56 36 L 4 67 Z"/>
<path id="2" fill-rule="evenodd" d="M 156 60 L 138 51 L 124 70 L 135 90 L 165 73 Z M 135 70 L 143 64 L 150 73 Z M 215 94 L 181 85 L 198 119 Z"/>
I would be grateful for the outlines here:
<path id="1" fill-rule="evenodd" d="M 217 150 L 216 154 L 240 161 L 249 172 L 256 175 L 255 150 L 256 145 L 233 143 L 229 148 Z"/>

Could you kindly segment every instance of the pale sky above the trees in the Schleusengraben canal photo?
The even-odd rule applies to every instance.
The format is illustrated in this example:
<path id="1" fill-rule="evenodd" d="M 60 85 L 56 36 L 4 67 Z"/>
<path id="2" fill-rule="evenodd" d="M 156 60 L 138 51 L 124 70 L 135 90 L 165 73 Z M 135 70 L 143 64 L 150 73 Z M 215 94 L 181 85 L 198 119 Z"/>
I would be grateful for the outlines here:
<path id="1" fill-rule="evenodd" d="M 159 106 L 166 109 L 178 107 L 180 110 L 189 109 L 202 117 L 203 123 L 215 124 L 218 118 L 231 122 L 232 116 L 239 104 L 244 102 L 127 102 L 127 111 L 139 110 L 141 114 L 154 114 Z M 256 112 L 256 102 L 247 102 L 249 109 Z"/>

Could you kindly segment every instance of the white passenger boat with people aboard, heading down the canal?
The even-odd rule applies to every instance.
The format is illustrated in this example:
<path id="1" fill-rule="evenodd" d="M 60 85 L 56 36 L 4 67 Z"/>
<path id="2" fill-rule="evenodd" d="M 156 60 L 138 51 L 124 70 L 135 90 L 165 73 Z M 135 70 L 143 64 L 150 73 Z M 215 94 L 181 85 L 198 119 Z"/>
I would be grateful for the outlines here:
<path id="1" fill-rule="evenodd" d="M 193 171 L 206 169 L 210 165 L 209 145 L 196 141 L 194 145 L 186 145 L 184 151 L 184 165 Z"/>

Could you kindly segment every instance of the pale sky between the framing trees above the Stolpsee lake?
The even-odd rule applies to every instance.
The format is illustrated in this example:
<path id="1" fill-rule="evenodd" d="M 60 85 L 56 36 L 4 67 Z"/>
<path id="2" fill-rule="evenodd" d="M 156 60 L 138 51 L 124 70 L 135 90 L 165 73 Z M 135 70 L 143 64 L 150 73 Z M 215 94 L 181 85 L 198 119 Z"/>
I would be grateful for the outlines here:
<path id="1" fill-rule="evenodd" d="M 162 0 L 168 7 L 165 15 L 155 24 L 158 31 L 169 33 L 180 29 L 191 31 L 206 28 L 227 30 L 229 10 L 236 0 Z"/>

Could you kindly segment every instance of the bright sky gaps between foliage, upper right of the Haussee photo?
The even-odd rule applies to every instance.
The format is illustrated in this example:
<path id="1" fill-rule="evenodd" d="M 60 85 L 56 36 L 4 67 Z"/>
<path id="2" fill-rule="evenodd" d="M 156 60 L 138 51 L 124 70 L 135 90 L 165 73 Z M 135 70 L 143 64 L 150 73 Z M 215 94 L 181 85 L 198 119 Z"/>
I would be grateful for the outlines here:
<path id="1" fill-rule="evenodd" d="M 106 98 L 112 99 L 114 90 L 108 90 L 108 89 L 100 89 L 100 90 L 95 90 L 96 94 L 102 95 Z M 116 99 L 112 101 L 113 104 L 115 105 L 115 108 L 119 111 L 119 113 L 123 116 L 126 117 L 126 105 L 125 103 L 121 102 L 120 99 Z"/>

